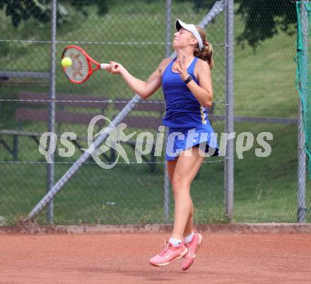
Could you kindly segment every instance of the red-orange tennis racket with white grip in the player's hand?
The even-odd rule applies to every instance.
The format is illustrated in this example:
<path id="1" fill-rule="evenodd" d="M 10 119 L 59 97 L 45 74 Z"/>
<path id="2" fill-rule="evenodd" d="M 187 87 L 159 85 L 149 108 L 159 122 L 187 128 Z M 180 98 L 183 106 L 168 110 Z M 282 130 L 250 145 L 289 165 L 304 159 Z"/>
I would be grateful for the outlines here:
<path id="1" fill-rule="evenodd" d="M 71 66 L 65 68 L 63 71 L 69 81 L 75 84 L 81 84 L 90 78 L 95 71 L 98 69 L 106 69 L 110 64 L 98 63 L 90 55 L 86 53 L 81 47 L 76 45 L 70 45 L 66 47 L 61 55 L 61 59 L 64 57 L 69 57 L 72 61 Z M 115 69 L 118 68 L 118 65 L 115 64 Z"/>

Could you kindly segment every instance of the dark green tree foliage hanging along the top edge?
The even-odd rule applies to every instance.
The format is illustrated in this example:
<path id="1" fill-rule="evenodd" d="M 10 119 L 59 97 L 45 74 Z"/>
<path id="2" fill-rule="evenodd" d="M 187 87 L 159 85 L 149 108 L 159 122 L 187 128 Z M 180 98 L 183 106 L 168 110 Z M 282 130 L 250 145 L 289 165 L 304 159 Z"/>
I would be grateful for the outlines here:
<path id="1" fill-rule="evenodd" d="M 142 0 L 147 3 L 159 0 Z M 194 11 L 199 9 L 210 9 L 215 0 L 176 0 L 177 2 L 193 3 Z M 136 0 L 136 2 L 141 2 Z M 47 23 L 50 18 L 50 0 L 2 0 L 0 10 L 6 11 L 6 16 L 11 17 L 14 26 L 18 26 L 21 21 L 33 17 L 41 23 Z M 88 6 L 96 6 L 100 16 L 105 15 L 109 8 L 117 4 L 117 0 L 62 0 L 58 1 L 58 23 L 64 21 L 66 13 L 61 13 L 61 5 L 72 6 L 76 11 L 88 16 Z M 257 47 L 259 42 L 273 37 L 278 33 L 278 28 L 291 33 L 291 26 L 296 23 L 295 5 L 290 0 L 235 0 L 237 5 L 236 13 L 242 16 L 245 22 L 245 29 L 237 42 L 248 42 L 252 47 Z M 125 2 L 124 2 L 125 4 Z M 139 3 L 137 3 L 139 5 Z"/>

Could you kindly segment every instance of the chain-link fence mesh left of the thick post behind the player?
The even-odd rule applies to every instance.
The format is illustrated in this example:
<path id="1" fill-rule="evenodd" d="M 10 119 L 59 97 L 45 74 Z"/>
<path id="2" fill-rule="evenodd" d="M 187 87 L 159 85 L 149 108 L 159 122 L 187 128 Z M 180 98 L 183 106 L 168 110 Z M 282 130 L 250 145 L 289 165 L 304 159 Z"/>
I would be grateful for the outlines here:
<path id="1" fill-rule="evenodd" d="M 190 3 L 165 1 L 117 1 L 107 6 L 107 13 L 98 15 L 96 6 L 85 6 L 86 13 L 59 1 L 57 8 L 57 66 L 56 66 L 56 113 L 54 129 L 57 133 L 54 182 L 57 182 L 69 167 L 88 148 L 86 135 L 90 119 L 103 114 L 110 120 L 122 110 L 134 96 L 119 76 L 97 72 L 83 85 L 71 84 L 62 73 L 60 56 L 64 47 L 78 45 L 91 57 L 102 62 L 120 62 L 137 78 L 146 80 L 163 58 L 173 52 L 172 35 L 175 18 L 188 23 L 200 23 L 208 10 L 194 11 Z M 51 8 L 49 5 L 47 9 Z M 170 8 L 170 23 L 167 9 Z M 30 8 L 31 9 L 31 8 Z M 30 10 L 30 13 L 35 11 Z M 29 19 L 13 28 L 10 18 L 4 13 L 2 19 L 9 27 L 1 45 L 6 50 L 2 60 L 6 66 L 6 81 L 1 82 L 1 214 L 6 220 L 16 221 L 25 216 L 45 195 L 48 187 L 47 161 L 40 153 L 40 134 L 48 131 L 49 114 L 49 68 L 51 35 L 49 21 L 38 23 Z M 167 42 L 167 25 L 170 37 Z M 223 114 L 221 102 L 224 93 L 224 20 L 215 18 L 209 26 L 209 41 L 214 46 L 215 112 Z M 2 50 L 4 50 L 2 49 Z M 10 71 L 10 73 L 8 72 Z M 23 72 L 23 73 L 22 73 Z M 33 73 L 30 73 L 33 72 Z M 31 76 L 31 78 L 30 78 Z M 41 78 L 42 77 L 42 78 Z M 125 132 L 137 134 L 151 131 L 154 137 L 161 125 L 165 110 L 162 91 L 151 100 L 139 102 L 124 119 Z M 103 125 L 102 125 L 103 126 Z M 221 124 L 216 124 L 221 127 Z M 96 126 L 100 130 L 100 126 Z M 6 130 L 6 132 L 4 132 Z M 221 129 L 222 130 L 222 129 Z M 60 136 L 74 132 L 78 139 L 74 155 L 61 157 L 64 148 Z M 6 135 L 4 135 L 6 133 Z M 129 158 L 128 165 L 119 158 L 112 170 L 103 170 L 93 159 L 88 159 L 74 177 L 54 199 L 54 223 L 163 223 L 172 220 L 170 192 L 164 196 L 164 158 L 152 154 L 142 155 L 142 164 L 137 163 L 134 142 L 122 143 Z M 42 149 L 42 153 L 44 149 Z M 107 151 L 102 161 L 115 162 L 115 153 Z M 200 222 L 221 220 L 223 216 L 223 174 L 221 158 L 206 162 L 194 183 L 194 202 Z M 208 190 L 210 172 L 215 175 L 215 187 Z M 216 186 L 217 184 L 217 186 Z M 201 199 L 201 195 L 204 199 Z M 166 204 L 165 204 L 166 203 Z M 166 208 L 166 212 L 164 212 Z M 208 219 L 209 218 L 209 219 Z M 39 217 L 45 222 L 45 215 Z"/>

